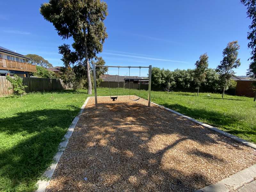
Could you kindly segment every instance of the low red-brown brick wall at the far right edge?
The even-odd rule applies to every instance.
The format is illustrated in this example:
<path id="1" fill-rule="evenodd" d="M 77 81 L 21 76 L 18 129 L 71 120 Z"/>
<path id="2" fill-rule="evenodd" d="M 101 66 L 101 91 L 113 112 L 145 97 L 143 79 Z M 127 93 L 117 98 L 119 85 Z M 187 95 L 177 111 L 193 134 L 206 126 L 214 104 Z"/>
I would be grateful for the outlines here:
<path id="1" fill-rule="evenodd" d="M 252 90 L 251 84 L 253 81 L 237 81 L 236 84 L 236 95 L 254 97 L 254 91 Z"/>

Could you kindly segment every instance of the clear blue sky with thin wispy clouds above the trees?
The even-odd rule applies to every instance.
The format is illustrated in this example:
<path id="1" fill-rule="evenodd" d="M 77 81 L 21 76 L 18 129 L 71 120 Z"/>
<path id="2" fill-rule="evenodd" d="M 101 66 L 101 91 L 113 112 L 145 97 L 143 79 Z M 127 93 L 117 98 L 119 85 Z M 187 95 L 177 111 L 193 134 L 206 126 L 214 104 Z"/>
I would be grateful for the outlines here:
<path id="1" fill-rule="evenodd" d="M 62 66 L 58 46 L 63 41 L 51 23 L 39 13 L 48 1 L 1 1 L 0 46 L 21 54 L 38 54 L 53 66 Z M 105 20 L 108 39 L 99 54 L 107 65 L 194 68 L 207 52 L 209 67 L 216 68 L 229 41 L 238 40 L 241 66 L 236 75 L 245 75 L 250 61 L 246 38 L 251 20 L 240 0 L 107 0 Z M 147 75 L 141 69 L 141 76 Z M 128 69 L 121 69 L 124 75 Z M 109 74 L 116 74 L 110 69 Z M 131 75 L 139 75 L 133 69 Z"/>

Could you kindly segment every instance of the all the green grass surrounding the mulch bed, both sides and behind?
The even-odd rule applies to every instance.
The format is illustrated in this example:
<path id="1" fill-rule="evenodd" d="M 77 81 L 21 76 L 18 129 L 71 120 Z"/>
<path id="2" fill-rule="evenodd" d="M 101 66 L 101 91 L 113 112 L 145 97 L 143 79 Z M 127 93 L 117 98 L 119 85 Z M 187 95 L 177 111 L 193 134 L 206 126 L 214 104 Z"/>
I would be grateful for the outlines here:
<path id="1" fill-rule="evenodd" d="M 116 90 L 111 89 L 113 95 Z M 118 95 L 128 95 L 119 89 Z M 131 94 L 138 95 L 137 90 Z M 210 96 L 207 96 L 210 94 Z M 98 96 L 109 95 L 106 88 Z M 87 98 L 77 92 L 30 93 L 0 98 L 0 191 L 34 191 L 73 118 Z M 141 91 L 147 99 L 148 92 Z M 151 92 L 153 102 L 256 143 L 256 102 L 252 98 L 188 92 Z"/>

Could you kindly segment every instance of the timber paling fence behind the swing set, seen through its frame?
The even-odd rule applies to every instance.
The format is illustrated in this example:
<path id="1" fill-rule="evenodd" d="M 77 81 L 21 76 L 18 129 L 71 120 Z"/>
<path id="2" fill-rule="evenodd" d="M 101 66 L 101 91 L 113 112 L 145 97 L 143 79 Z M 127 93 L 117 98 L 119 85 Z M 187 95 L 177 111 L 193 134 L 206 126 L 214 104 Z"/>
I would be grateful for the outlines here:
<path id="1" fill-rule="evenodd" d="M 101 81 L 99 87 L 108 87 L 107 81 Z M 109 87 L 110 88 L 117 88 L 118 82 L 112 82 L 109 81 Z M 133 83 L 126 83 L 126 82 L 119 82 L 119 88 L 125 88 L 125 89 L 144 89 L 148 90 L 148 84 L 133 84 Z"/>

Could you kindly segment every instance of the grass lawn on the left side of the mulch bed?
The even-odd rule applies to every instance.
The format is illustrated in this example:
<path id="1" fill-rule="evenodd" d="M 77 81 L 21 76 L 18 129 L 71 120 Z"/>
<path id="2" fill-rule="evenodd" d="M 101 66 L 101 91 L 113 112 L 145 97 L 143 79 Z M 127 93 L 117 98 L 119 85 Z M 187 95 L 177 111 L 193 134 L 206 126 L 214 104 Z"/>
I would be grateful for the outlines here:
<path id="1" fill-rule="evenodd" d="M 34 191 L 86 91 L 0 98 L 0 191 Z"/>

